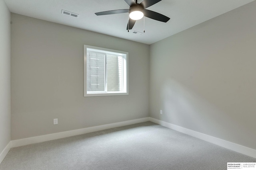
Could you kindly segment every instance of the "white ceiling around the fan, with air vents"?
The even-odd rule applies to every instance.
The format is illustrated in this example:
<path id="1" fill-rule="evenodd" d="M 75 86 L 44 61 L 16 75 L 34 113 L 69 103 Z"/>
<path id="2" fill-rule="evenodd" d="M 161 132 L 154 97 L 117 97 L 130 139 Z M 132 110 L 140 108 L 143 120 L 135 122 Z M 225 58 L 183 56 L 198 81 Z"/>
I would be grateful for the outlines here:
<path id="1" fill-rule="evenodd" d="M 254 0 L 162 0 L 147 9 L 171 19 L 164 23 L 145 18 L 145 33 L 138 35 L 132 32 L 143 32 L 143 20 L 136 21 L 128 33 L 128 13 L 106 16 L 94 14 L 128 9 L 124 0 L 5 0 L 10 11 L 16 14 L 145 44 L 152 44 L 252 1 Z M 138 0 L 140 2 L 142 0 Z M 79 17 L 61 14 L 62 10 L 79 14 Z"/>

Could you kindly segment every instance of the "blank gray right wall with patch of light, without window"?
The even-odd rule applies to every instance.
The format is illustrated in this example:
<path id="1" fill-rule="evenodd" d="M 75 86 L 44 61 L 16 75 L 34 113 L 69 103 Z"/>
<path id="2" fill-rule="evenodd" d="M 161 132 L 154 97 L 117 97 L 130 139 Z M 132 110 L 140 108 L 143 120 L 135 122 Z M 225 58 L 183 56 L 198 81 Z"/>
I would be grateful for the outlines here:
<path id="1" fill-rule="evenodd" d="M 150 45 L 150 117 L 256 149 L 255 9 Z"/>

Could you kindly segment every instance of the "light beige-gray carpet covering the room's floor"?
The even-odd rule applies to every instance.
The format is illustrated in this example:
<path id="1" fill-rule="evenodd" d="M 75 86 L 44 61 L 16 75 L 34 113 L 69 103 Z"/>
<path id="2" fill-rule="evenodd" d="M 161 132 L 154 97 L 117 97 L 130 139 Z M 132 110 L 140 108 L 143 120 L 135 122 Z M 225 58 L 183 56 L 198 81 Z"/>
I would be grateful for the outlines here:
<path id="1" fill-rule="evenodd" d="M 0 170 L 226 170 L 256 158 L 152 122 L 12 148 Z"/>

